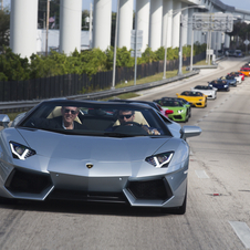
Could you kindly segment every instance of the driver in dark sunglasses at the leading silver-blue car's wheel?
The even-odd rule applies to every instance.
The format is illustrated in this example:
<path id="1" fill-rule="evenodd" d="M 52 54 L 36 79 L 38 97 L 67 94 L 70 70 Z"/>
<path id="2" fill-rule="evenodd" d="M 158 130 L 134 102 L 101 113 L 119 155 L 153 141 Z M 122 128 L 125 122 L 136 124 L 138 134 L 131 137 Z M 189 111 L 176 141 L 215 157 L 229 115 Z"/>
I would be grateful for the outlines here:
<path id="1" fill-rule="evenodd" d="M 118 121 L 121 125 L 124 126 L 135 126 L 135 112 L 134 111 L 119 111 L 118 112 Z M 115 126 L 117 127 L 117 126 Z M 113 129 L 115 128 L 113 127 Z M 148 135 L 160 135 L 160 133 L 156 128 L 150 128 L 146 125 L 142 125 L 142 128 L 145 129 Z"/>

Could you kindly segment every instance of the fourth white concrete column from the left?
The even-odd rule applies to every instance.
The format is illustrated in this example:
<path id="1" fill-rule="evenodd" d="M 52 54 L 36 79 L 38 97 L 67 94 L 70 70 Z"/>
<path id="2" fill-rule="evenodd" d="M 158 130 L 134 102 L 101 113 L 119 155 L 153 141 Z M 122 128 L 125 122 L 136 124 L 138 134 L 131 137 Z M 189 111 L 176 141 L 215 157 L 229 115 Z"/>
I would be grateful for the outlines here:
<path id="1" fill-rule="evenodd" d="M 131 31 L 133 30 L 133 0 L 119 0 L 118 48 L 131 50 Z"/>

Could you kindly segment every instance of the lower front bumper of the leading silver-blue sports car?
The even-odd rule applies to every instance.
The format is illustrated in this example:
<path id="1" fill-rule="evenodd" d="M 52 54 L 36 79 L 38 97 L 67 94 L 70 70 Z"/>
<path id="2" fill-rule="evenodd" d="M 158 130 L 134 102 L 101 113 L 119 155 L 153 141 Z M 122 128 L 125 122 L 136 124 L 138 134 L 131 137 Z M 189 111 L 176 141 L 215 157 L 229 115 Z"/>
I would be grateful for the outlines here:
<path id="1" fill-rule="evenodd" d="M 188 162 L 178 171 L 139 178 L 84 177 L 13 168 L 6 197 L 29 200 L 121 202 L 139 207 L 178 207 L 186 192 Z M 2 190 L 1 190 L 2 192 Z"/>

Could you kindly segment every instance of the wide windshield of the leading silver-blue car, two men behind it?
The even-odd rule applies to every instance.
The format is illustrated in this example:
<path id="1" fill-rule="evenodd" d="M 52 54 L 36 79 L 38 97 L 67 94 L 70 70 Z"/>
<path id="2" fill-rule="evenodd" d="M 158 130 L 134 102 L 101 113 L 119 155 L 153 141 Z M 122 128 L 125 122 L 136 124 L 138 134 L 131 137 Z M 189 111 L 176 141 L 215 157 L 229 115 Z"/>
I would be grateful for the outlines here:
<path id="1" fill-rule="evenodd" d="M 42 102 L 15 127 L 86 136 L 171 136 L 154 108 L 111 102 Z"/>

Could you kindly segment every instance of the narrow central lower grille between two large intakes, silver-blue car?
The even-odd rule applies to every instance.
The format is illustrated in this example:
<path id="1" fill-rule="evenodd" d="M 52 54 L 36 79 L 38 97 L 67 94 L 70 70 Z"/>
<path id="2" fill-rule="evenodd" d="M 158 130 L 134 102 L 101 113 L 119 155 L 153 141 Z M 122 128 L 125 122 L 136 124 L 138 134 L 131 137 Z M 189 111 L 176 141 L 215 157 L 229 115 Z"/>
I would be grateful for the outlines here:
<path id="1" fill-rule="evenodd" d="M 58 188 L 55 188 L 48 198 L 75 201 L 127 202 L 123 192 L 87 192 Z"/>

